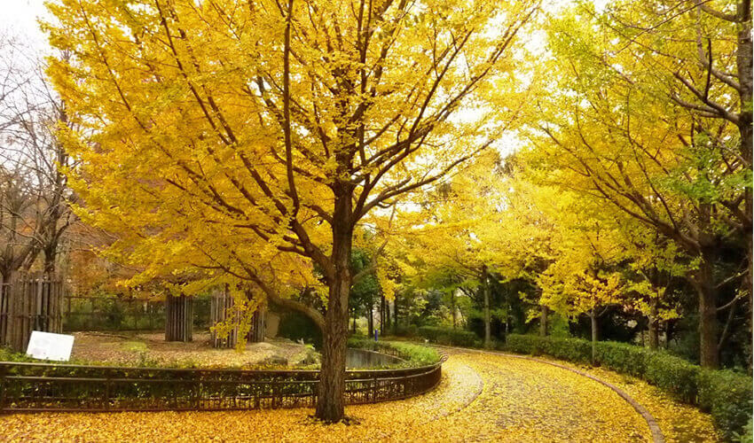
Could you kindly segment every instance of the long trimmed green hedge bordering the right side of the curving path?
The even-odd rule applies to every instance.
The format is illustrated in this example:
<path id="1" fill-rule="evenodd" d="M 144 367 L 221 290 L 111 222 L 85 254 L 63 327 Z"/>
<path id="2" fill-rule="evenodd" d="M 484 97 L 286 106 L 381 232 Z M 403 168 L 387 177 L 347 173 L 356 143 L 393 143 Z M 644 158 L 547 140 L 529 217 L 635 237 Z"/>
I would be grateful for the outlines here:
<path id="1" fill-rule="evenodd" d="M 505 350 L 516 354 L 549 355 L 578 363 L 592 361 L 592 342 L 508 334 Z M 625 343 L 598 342 L 595 363 L 656 385 L 675 398 L 709 412 L 726 439 L 745 432 L 751 417 L 751 377 L 730 370 L 702 369 L 662 351 Z"/>

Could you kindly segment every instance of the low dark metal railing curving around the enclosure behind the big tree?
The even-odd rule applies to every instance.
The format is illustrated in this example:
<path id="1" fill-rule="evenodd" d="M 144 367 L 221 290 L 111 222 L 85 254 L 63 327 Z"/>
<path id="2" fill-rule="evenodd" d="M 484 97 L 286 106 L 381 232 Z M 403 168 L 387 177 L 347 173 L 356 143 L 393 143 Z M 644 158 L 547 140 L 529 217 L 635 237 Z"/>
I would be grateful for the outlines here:
<path id="1" fill-rule="evenodd" d="M 346 404 L 432 390 L 442 362 L 346 371 Z M 317 370 L 166 369 L 0 361 L 0 412 L 310 408 Z"/>

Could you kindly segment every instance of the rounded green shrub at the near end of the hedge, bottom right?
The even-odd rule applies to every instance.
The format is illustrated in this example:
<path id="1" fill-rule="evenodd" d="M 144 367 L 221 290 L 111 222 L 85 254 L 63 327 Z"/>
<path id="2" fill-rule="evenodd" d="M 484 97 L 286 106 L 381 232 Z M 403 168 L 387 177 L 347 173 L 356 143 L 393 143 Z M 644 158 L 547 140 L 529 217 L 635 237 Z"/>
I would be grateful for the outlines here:
<path id="1" fill-rule="evenodd" d="M 734 439 L 751 419 L 751 378 L 730 370 L 702 369 L 697 387 L 699 407 L 710 412 L 726 439 Z"/>

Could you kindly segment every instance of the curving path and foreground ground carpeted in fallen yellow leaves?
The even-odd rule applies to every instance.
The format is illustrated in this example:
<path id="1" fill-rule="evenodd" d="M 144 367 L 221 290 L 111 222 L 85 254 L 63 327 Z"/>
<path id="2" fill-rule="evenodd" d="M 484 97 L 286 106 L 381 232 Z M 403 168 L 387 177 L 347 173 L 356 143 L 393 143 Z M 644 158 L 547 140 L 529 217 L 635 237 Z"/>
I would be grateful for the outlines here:
<path id="1" fill-rule="evenodd" d="M 37 414 L 0 417 L 12 441 L 649 441 L 644 419 L 617 393 L 537 361 L 448 350 L 433 392 L 347 408 L 359 424 L 313 422 L 310 409 Z M 708 416 L 608 371 L 656 416 L 668 441 L 715 441 Z"/>

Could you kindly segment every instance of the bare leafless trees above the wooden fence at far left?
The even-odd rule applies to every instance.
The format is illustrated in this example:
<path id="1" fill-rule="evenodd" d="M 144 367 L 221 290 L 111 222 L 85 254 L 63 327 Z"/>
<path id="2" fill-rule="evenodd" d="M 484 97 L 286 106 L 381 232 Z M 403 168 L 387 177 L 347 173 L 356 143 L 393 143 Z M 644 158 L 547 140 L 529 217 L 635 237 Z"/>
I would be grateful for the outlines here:
<path id="1" fill-rule="evenodd" d="M 60 269 L 65 234 L 75 221 L 64 170 L 73 167 L 56 131 L 65 105 L 48 88 L 27 48 L 0 37 L 0 276 Z"/>

